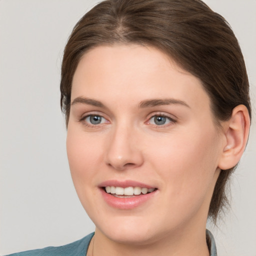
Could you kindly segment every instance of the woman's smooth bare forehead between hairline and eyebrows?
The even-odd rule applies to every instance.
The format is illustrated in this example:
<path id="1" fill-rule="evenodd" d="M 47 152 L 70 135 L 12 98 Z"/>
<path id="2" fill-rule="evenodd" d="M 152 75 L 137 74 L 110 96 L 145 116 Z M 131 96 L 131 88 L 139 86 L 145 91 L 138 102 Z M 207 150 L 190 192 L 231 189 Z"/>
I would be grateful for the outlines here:
<path id="1" fill-rule="evenodd" d="M 77 96 L 122 103 L 168 96 L 197 107 L 209 105 L 197 77 L 162 51 L 137 44 L 101 45 L 86 52 L 73 76 L 71 101 Z"/>

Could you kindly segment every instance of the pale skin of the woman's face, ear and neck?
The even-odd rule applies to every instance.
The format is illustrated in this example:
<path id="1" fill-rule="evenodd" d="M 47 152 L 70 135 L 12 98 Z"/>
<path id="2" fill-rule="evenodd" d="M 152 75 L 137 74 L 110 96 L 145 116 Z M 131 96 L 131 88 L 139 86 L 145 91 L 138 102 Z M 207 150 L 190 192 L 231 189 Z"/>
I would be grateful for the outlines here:
<path id="1" fill-rule="evenodd" d="M 209 255 L 213 188 L 220 169 L 239 161 L 248 130 L 243 105 L 217 127 L 200 80 L 156 48 L 86 52 L 73 76 L 66 143 L 76 192 L 96 226 L 87 255 Z M 99 187 L 113 179 L 156 190 L 137 207 L 114 208 Z"/>

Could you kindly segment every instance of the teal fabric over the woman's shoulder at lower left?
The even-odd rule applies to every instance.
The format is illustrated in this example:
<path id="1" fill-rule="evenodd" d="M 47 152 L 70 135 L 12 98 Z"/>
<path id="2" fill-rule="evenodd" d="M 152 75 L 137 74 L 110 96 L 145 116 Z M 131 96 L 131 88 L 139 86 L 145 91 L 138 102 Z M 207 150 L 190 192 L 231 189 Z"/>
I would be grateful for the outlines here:
<path id="1" fill-rule="evenodd" d="M 8 256 L 84 256 L 89 242 L 94 233 L 90 233 L 80 240 L 57 247 L 45 247 L 43 249 L 27 250 L 9 254 Z"/>

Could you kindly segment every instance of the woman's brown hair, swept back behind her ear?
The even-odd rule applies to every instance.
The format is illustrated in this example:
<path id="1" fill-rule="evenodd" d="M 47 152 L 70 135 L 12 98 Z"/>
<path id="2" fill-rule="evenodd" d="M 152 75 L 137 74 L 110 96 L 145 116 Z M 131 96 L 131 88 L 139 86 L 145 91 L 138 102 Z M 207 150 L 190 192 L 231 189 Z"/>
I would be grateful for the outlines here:
<path id="1" fill-rule="evenodd" d="M 72 77 L 81 56 L 97 45 L 114 43 L 154 46 L 198 77 L 217 125 L 239 104 L 251 116 L 243 56 L 222 16 L 200 0 L 105 0 L 77 22 L 65 46 L 60 102 L 66 125 Z M 228 204 L 225 186 L 233 170 L 221 170 L 217 179 L 208 212 L 214 222 Z"/>

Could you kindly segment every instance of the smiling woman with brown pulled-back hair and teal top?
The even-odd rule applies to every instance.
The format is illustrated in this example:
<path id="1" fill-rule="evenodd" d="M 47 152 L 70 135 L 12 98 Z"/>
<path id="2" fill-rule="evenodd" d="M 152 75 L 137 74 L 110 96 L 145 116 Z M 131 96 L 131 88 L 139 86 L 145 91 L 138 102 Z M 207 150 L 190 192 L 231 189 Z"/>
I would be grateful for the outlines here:
<path id="1" fill-rule="evenodd" d="M 61 107 L 95 233 L 20 255 L 216 255 L 205 226 L 250 125 L 233 32 L 199 0 L 106 0 L 66 44 Z"/>

